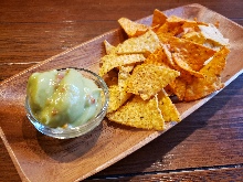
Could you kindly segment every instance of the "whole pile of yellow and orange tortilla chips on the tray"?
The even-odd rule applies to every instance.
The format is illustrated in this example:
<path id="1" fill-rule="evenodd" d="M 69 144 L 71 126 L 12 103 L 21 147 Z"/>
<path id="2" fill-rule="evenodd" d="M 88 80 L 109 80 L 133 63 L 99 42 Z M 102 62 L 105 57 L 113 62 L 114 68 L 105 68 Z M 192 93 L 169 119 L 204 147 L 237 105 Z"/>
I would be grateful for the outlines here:
<path id="1" fill-rule="evenodd" d="M 128 39 L 116 46 L 104 42 L 99 69 L 109 88 L 109 120 L 163 130 L 165 122 L 181 120 L 170 96 L 191 101 L 224 86 L 229 40 L 215 25 L 157 9 L 151 25 L 118 22 Z"/>

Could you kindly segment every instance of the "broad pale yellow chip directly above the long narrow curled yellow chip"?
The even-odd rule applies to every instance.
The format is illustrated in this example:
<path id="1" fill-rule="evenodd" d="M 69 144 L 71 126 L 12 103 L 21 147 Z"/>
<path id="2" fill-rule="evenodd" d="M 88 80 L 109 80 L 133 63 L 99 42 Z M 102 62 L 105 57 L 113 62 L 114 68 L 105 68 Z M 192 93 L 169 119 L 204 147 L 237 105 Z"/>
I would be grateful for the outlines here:
<path id="1" fill-rule="evenodd" d="M 157 34 L 149 30 L 138 38 L 130 38 L 117 46 L 117 54 L 154 53 L 160 46 Z"/>

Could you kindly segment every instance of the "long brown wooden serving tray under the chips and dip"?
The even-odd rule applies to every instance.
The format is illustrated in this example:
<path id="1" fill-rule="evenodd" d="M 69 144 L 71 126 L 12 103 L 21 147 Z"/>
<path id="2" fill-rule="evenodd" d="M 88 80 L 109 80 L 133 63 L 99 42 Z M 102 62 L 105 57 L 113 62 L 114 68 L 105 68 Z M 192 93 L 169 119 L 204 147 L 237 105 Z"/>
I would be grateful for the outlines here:
<path id="1" fill-rule="evenodd" d="M 167 15 L 220 23 L 220 31 L 230 40 L 231 53 L 222 81 L 229 85 L 243 68 L 243 28 L 200 4 L 189 4 L 165 11 Z M 151 15 L 138 22 L 150 24 Z M 33 72 L 68 66 L 97 72 L 99 58 L 105 54 L 103 41 L 116 45 L 126 39 L 120 30 L 113 30 L 66 52 L 43 61 L 36 66 L 12 76 L 0 85 L 0 136 L 23 181 L 83 180 L 112 165 L 162 132 L 139 130 L 104 120 L 94 131 L 75 139 L 59 140 L 43 136 L 28 120 L 24 110 L 28 77 Z M 209 97 L 180 103 L 182 119 L 204 105 Z M 183 120 L 182 120 L 183 121 Z M 173 125 L 168 125 L 167 130 Z"/>

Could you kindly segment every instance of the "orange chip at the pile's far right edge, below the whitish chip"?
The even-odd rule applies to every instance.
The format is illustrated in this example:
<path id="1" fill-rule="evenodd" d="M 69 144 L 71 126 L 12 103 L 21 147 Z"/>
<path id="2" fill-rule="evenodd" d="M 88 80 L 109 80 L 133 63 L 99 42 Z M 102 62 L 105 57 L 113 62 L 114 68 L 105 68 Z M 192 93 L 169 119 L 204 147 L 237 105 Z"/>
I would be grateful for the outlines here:
<path id="1" fill-rule="evenodd" d="M 186 101 L 203 98 L 224 86 L 221 83 L 220 75 L 225 67 L 228 54 L 229 50 L 225 46 L 215 53 L 212 61 L 200 71 L 204 75 L 204 78 L 194 77 L 192 84 L 187 86 Z"/>

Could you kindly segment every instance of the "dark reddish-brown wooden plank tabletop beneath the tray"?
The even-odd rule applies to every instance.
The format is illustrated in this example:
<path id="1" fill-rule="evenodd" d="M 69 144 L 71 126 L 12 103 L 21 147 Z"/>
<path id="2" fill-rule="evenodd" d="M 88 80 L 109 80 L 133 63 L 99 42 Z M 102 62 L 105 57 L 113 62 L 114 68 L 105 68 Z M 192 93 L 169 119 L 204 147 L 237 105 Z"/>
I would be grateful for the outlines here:
<path id="1" fill-rule="evenodd" d="M 0 1 L 0 83 L 154 9 L 200 3 L 243 25 L 242 0 Z M 171 130 L 86 181 L 243 180 L 243 75 Z M 0 181 L 20 181 L 0 140 Z"/>

